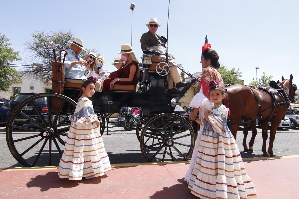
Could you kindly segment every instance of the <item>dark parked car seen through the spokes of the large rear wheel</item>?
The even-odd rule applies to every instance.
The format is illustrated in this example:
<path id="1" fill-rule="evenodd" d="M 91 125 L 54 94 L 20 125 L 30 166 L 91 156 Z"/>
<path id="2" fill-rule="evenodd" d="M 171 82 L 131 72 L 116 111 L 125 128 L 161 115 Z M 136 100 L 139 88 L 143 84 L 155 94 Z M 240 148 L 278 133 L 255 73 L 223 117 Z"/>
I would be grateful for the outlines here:
<path id="1" fill-rule="evenodd" d="M 8 108 L 8 112 L 7 112 L 7 119 L 11 115 L 13 109 L 16 108 L 16 106 L 18 106 L 25 99 L 27 99 L 30 96 L 35 95 L 35 94 L 36 93 L 20 93 L 20 94 L 18 94 L 10 102 L 10 105 L 9 105 L 9 108 Z M 45 119 L 45 121 L 47 122 L 48 121 L 47 98 L 38 98 L 38 99 L 33 100 L 33 102 L 36 105 L 36 107 L 39 110 L 39 112 L 41 113 L 41 115 L 43 116 L 43 118 Z M 28 115 L 30 118 L 33 118 L 36 122 L 42 123 L 42 120 L 39 117 L 39 115 L 37 114 L 37 112 L 34 110 L 32 103 L 28 103 L 21 110 L 22 110 L 23 113 L 25 113 L 26 115 Z M 30 121 L 27 118 L 25 118 L 24 116 L 22 116 L 22 115 L 19 114 L 16 117 L 16 119 L 14 121 L 14 124 L 22 126 L 24 124 L 30 124 Z"/>

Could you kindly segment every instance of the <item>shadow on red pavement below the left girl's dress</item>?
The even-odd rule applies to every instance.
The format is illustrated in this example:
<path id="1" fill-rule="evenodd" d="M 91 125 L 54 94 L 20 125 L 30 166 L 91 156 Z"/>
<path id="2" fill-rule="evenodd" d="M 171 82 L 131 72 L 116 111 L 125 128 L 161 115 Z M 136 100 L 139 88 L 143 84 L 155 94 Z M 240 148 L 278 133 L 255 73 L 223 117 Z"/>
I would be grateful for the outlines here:
<path id="1" fill-rule="evenodd" d="M 102 182 L 102 178 L 107 178 L 107 175 L 103 175 L 97 178 L 85 179 L 79 181 L 71 181 L 68 179 L 60 179 L 58 172 L 50 171 L 45 175 L 37 175 L 35 178 L 31 178 L 26 185 L 30 187 L 39 187 L 41 192 L 48 191 L 49 189 L 57 188 L 71 188 L 80 184 L 99 184 Z"/>

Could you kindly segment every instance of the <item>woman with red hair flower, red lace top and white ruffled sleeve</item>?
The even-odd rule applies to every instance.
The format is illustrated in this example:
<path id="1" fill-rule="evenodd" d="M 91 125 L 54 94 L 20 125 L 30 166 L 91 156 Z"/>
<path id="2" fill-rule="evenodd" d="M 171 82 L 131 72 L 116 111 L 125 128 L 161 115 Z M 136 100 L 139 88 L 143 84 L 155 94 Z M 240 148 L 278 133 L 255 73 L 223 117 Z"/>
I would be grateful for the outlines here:
<path id="1" fill-rule="evenodd" d="M 210 81 L 216 81 L 217 84 L 224 86 L 222 77 L 220 73 L 218 72 L 218 68 L 220 67 L 219 64 L 219 56 L 217 52 L 211 48 L 211 44 L 205 43 L 202 47 L 202 55 L 201 55 L 201 61 L 202 64 L 202 78 L 199 83 L 199 93 L 197 93 L 191 103 L 190 107 L 194 107 L 192 114 L 189 115 L 190 120 L 195 120 L 197 118 L 197 113 L 199 112 L 199 119 L 204 118 L 204 111 L 206 109 L 210 109 L 213 107 L 213 102 L 210 102 L 210 96 L 209 96 L 209 82 Z M 202 129 L 203 126 L 199 128 L 199 133 L 197 135 L 194 149 L 197 149 L 199 146 L 199 141 L 202 135 Z M 189 169 L 185 175 L 185 181 L 189 183 L 189 179 L 191 177 L 191 173 L 194 169 L 195 163 L 196 163 L 196 155 L 197 151 L 193 150 L 192 158 L 190 161 Z"/>

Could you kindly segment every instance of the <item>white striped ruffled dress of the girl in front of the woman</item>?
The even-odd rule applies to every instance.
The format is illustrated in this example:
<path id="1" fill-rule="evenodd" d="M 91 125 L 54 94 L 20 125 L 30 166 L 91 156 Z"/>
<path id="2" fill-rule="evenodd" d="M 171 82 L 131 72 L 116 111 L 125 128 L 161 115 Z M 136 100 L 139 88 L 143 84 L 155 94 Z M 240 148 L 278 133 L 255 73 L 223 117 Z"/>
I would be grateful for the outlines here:
<path id="1" fill-rule="evenodd" d="M 227 127 L 227 115 L 224 105 L 210 111 L 208 117 L 213 125 L 205 122 L 188 188 L 200 198 L 257 198 L 236 141 Z"/>

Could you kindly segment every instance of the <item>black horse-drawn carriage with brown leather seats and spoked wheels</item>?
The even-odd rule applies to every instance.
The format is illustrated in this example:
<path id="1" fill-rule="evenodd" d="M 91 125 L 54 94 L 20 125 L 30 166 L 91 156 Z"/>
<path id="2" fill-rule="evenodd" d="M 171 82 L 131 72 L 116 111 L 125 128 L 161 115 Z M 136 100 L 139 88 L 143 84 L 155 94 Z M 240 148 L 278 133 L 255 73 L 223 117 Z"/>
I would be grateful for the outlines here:
<path id="1" fill-rule="evenodd" d="M 164 86 L 168 72 L 169 66 L 163 60 L 152 58 L 151 52 L 146 51 L 139 78 L 143 90 L 135 91 L 137 82 L 131 85 L 115 84 L 112 92 L 96 92 L 90 98 L 101 122 L 101 135 L 106 122 L 109 123 L 109 117 L 118 113 L 121 107 L 142 108 L 144 116 L 136 131 L 141 152 L 149 162 L 186 161 L 195 143 L 195 133 L 188 118 L 173 112 L 176 103 L 196 81 L 196 77 L 192 77 L 185 87 L 175 93 L 169 93 Z M 74 113 L 80 87 L 81 84 L 66 82 L 63 95 L 36 94 L 13 109 L 7 122 L 6 139 L 10 152 L 19 163 L 24 166 L 58 165 L 70 129 L 68 116 Z M 48 110 L 43 113 L 35 104 L 40 98 L 47 100 Z M 36 114 L 26 114 L 28 107 Z M 15 123 L 16 117 L 23 117 L 27 124 Z"/>

